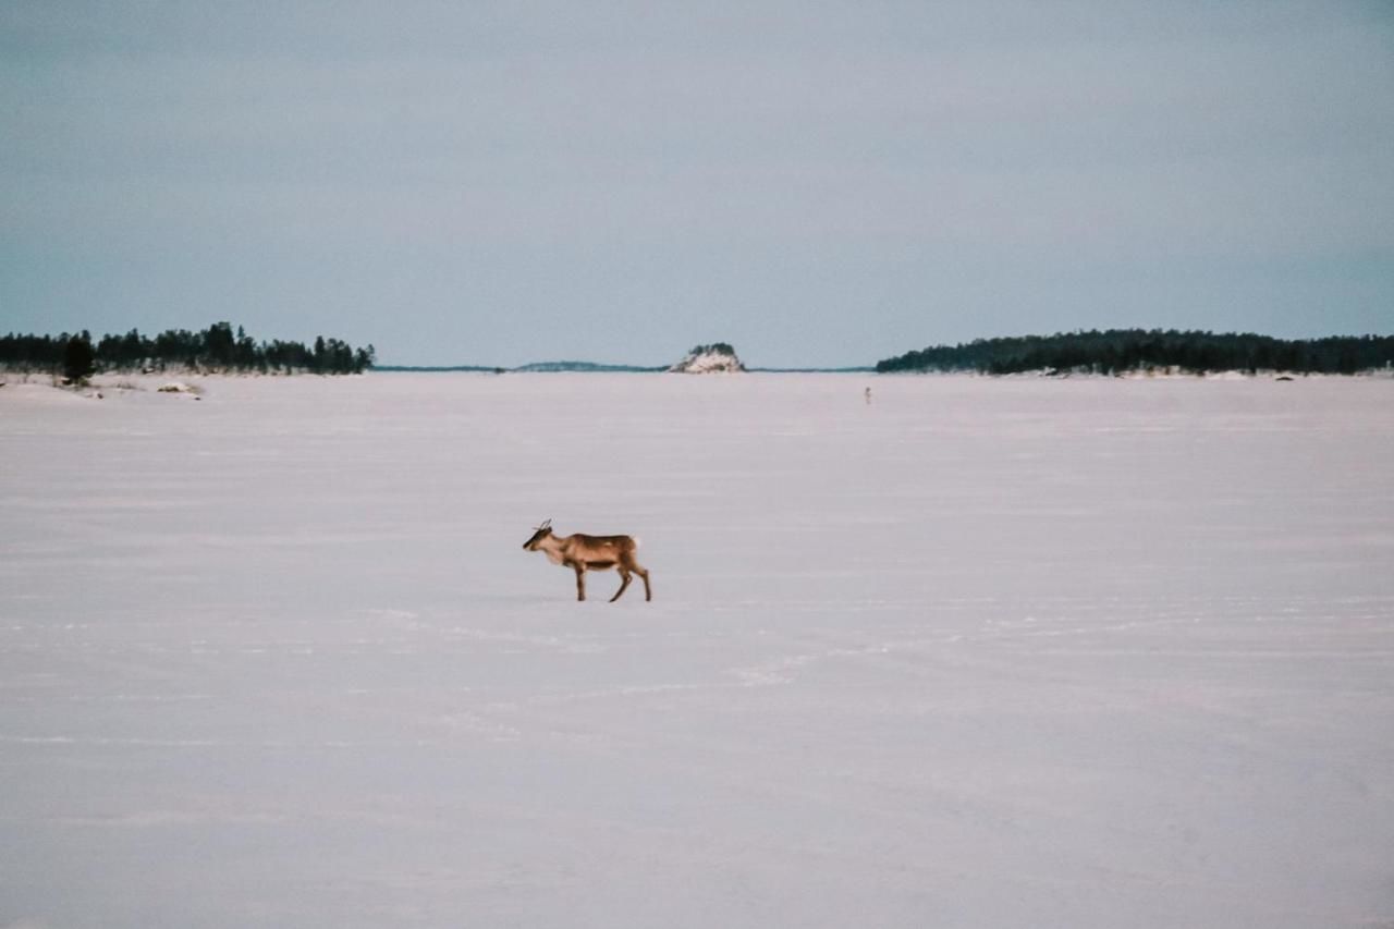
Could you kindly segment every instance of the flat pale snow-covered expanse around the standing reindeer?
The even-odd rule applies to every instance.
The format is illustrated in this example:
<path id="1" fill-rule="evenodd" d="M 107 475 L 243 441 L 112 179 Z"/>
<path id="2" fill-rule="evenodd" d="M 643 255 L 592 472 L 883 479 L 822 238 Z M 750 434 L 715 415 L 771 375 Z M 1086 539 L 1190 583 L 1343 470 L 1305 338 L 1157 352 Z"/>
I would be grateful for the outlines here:
<path id="1" fill-rule="evenodd" d="M 1394 925 L 1394 381 L 191 384 L 0 389 L 0 926 Z"/>

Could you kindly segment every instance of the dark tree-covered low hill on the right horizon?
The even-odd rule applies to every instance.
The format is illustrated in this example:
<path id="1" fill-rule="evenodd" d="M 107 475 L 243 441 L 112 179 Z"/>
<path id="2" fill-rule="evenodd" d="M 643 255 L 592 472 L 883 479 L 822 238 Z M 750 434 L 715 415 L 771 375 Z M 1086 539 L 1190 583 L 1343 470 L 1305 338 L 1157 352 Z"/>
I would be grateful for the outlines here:
<path id="1" fill-rule="evenodd" d="M 930 346 L 878 361 L 875 370 L 979 374 L 1055 370 L 1124 374 L 1174 368 L 1192 374 L 1211 371 L 1356 374 L 1383 368 L 1391 363 L 1394 363 L 1394 336 L 1274 339 L 1232 332 L 1108 329 L 974 339 L 955 346 Z"/>

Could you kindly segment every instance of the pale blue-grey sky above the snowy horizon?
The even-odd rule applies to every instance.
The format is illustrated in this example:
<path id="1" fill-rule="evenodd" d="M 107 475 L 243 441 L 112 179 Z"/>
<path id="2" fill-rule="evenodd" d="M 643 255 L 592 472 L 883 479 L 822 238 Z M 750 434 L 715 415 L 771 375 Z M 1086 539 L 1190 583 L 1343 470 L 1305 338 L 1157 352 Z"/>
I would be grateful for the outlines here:
<path id="1" fill-rule="evenodd" d="M 1394 4 L 0 0 L 0 331 L 1394 332 Z"/>

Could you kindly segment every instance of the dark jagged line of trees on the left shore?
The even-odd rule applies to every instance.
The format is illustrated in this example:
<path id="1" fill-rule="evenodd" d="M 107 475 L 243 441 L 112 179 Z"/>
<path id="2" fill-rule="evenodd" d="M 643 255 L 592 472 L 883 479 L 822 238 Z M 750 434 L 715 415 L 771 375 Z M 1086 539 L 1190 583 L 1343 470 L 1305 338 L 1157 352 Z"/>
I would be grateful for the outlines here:
<path id="1" fill-rule="evenodd" d="M 301 342 L 256 342 L 229 322 L 215 322 L 202 332 L 169 329 L 153 339 L 131 329 L 93 342 L 79 333 L 0 336 L 0 367 L 18 371 L 61 371 L 81 379 L 93 371 L 192 368 L 259 374 L 307 371 L 311 374 L 361 374 L 372 367 L 375 349 L 354 349 L 340 339 L 318 336 L 314 346 Z"/>

